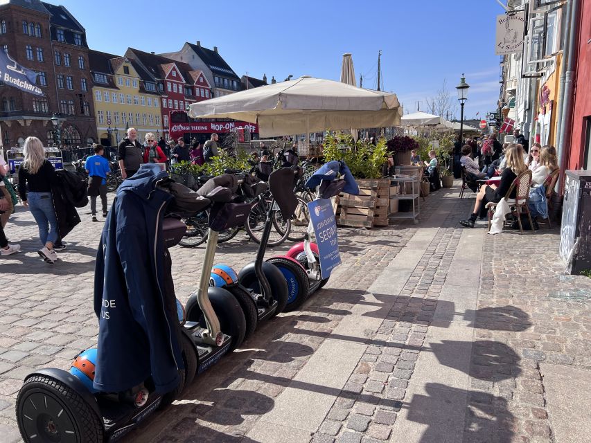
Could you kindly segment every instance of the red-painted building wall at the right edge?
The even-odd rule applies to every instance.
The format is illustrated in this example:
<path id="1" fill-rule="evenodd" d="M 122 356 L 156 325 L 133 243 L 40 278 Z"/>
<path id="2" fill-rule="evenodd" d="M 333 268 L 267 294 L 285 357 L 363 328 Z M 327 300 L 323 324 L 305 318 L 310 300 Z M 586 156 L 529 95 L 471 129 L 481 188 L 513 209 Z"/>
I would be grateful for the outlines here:
<path id="1" fill-rule="evenodd" d="M 591 0 L 579 5 L 579 38 L 574 111 L 567 169 L 591 169 Z"/>

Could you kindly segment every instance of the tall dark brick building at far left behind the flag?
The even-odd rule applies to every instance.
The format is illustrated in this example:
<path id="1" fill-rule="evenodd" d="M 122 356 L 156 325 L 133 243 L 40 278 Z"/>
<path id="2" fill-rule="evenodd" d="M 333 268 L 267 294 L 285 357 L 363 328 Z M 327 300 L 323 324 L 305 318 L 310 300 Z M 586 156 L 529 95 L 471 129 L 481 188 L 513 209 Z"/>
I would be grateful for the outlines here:
<path id="1" fill-rule="evenodd" d="M 0 85 L 2 142 L 21 146 L 27 136 L 57 143 L 51 117 L 58 116 L 61 145 L 96 141 L 85 29 L 63 6 L 9 0 L 0 6 L 0 45 L 37 71 L 43 97 Z"/>

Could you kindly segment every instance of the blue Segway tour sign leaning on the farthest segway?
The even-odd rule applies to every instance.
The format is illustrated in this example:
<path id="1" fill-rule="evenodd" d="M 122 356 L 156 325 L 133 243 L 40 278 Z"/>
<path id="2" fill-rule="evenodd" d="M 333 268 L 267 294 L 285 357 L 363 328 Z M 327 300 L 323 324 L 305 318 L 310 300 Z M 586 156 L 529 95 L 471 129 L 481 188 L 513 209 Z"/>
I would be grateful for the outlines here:
<path id="1" fill-rule="evenodd" d="M 330 199 L 310 201 L 308 211 L 310 211 L 310 219 L 316 234 L 316 244 L 320 255 L 320 273 L 324 280 L 330 277 L 330 273 L 336 266 L 341 264 L 335 212 Z"/>

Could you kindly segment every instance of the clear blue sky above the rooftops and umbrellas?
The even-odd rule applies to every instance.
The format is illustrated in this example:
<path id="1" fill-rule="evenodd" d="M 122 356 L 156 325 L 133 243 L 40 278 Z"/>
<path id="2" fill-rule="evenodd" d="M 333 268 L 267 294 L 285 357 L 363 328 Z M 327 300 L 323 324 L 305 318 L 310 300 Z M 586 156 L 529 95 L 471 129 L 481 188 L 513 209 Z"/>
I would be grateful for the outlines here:
<path id="1" fill-rule="evenodd" d="M 268 80 L 290 74 L 339 80 L 342 54 L 352 53 L 358 82 L 361 74 L 363 86 L 375 88 L 381 49 L 384 90 L 398 95 L 405 112 L 416 111 L 419 101 L 425 110 L 444 79 L 455 100 L 461 73 L 470 84 L 466 118 L 495 110 L 499 96 L 495 17 L 504 11 L 495 0 L 59 3 L 98 51 L 121 55 L 131 46 L 165 53 L 200 40 L 218 46 L 239 76 L 266 73 Z"/>

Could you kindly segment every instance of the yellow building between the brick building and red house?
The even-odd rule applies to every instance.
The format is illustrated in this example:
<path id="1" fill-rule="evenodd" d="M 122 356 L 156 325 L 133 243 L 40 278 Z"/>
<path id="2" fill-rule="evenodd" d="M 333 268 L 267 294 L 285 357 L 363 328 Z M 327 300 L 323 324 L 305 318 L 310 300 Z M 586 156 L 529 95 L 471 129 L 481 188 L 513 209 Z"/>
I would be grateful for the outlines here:
<path id="1" fill-rule="evenodd" d="M 100 143 L 116 146 L 130 127 L 137 129 L 142 142 L 148 132 L 159 140 L 161 100 L 152 76 L 135 60 L 99 51 L 89 51 L 89 64 Z"/>

